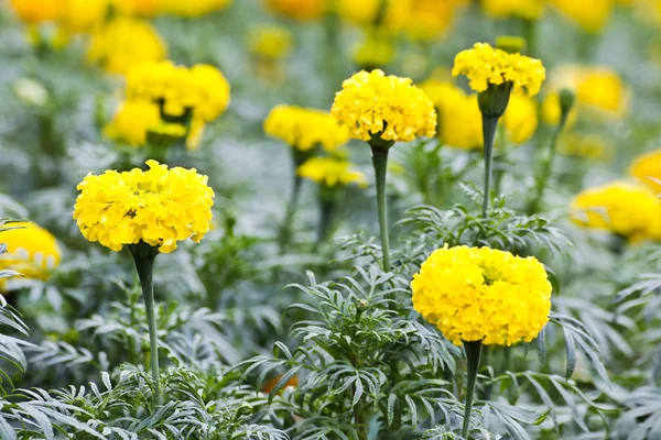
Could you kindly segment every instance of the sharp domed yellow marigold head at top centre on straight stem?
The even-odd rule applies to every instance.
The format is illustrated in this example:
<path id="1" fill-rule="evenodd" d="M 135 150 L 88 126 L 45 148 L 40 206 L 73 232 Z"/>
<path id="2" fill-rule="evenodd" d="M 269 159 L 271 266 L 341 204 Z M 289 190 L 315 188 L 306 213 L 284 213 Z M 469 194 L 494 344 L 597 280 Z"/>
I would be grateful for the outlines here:
<path id="1" fill-rule="evenodd" d="M 351 138 L 409 142 L 433 136 L 436 112 L 427 96 L 409 78 L 361 70 L 346 79 L 335 95 L 332 113 Z"/>

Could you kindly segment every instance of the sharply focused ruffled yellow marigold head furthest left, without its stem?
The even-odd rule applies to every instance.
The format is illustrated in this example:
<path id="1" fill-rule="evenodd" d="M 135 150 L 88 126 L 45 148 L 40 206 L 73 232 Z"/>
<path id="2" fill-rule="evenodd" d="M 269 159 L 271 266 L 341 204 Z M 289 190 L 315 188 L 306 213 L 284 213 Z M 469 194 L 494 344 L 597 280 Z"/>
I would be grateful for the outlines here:
<path id="1" fill-rule="evenodd" d="M 87 240 L 112 251 L 142 241 L 163 253 L 174 251 L 177 241 L 202 240 L 214 205 L 207 176 L 195 168 L 167 169 L 155 161 L 147 165 L 147 172 L 89 174 L 78 185 L 74 219 Z"/>

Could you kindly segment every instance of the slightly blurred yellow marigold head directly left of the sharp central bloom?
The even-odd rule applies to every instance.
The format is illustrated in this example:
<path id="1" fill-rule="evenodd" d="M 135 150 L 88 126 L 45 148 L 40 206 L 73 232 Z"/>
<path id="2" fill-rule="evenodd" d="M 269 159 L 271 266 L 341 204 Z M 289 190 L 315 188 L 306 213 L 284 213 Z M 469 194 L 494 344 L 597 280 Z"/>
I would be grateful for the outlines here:
<path id="1" fill-rule="evenodd" d="M 275 106 L 264 120 L 264 132 L 304 152 L 319 145 L 334 152 L 349 141 L 348 131 L 330 113 L 295 106 Z"/>

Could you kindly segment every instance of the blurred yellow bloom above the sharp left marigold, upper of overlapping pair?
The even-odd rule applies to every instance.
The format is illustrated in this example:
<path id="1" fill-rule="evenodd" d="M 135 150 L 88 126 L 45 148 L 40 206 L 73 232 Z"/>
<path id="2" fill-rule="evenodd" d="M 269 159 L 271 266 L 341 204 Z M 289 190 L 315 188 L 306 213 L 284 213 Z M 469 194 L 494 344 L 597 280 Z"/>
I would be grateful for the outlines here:
<path id="1" fill-rule="evenodd" d="M 229 82 L 206 64 L 143 63 L 127 75 L 127 97 L 162 103 L 162 116 L 180 118 L 188 110 L 194 120 L 210 122 L 229 105 Z"/>

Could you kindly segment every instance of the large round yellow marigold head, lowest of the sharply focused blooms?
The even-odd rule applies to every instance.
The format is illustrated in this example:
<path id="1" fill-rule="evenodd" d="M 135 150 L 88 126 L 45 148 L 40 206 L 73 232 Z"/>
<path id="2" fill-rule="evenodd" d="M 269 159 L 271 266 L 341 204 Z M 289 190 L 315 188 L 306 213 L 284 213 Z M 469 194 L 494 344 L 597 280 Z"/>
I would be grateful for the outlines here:
<path id="1" fill-rule="evenodd" d="M 549 321 L 551 283 L 534 257 L 489 248 L 434 251 L 413 276 L 413 308 L 460 345 L 532 341 Z"/>

